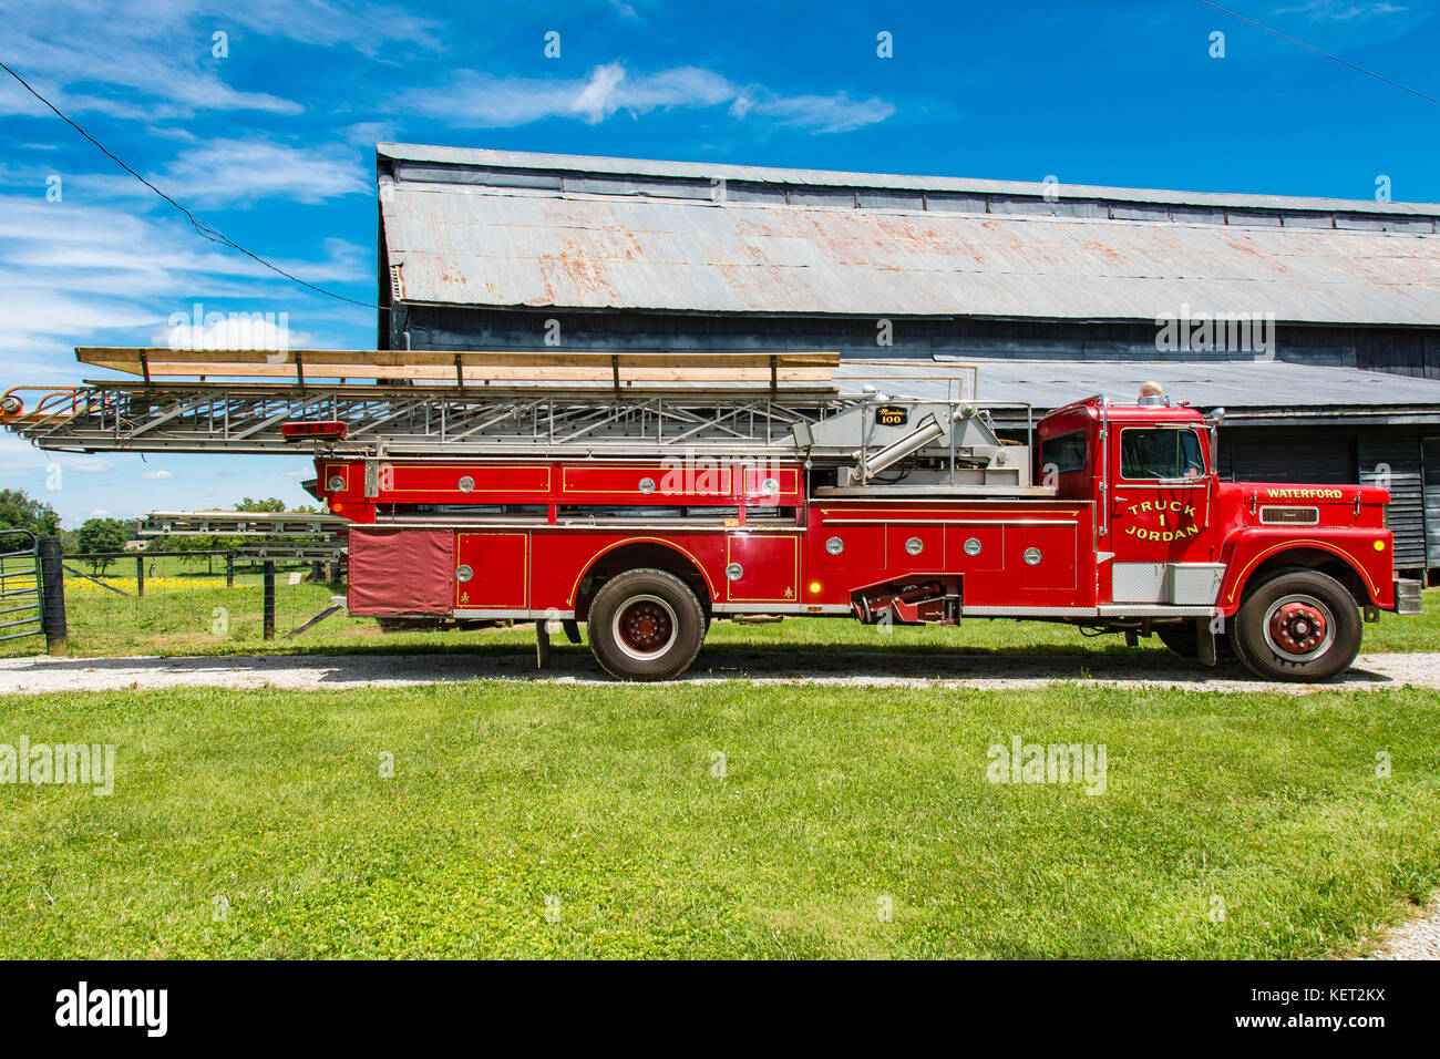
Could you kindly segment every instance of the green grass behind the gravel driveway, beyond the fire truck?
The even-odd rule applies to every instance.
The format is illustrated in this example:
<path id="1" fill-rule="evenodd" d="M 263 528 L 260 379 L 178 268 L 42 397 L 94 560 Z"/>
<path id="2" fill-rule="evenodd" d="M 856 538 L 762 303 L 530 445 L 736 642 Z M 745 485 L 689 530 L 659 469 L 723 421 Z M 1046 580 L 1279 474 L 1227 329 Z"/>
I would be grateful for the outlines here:
<path id="1" fill-rule="evenodd" d="M 131 582 L 117 581 L 132 589 L 134 563 L 128 565 Z M 350 618 L 344 612 L 325 620 L 295 638 L 285 633 L 330 605 L 333 595 L 343 595 L 343 585 L 288 584 L 289 573 L 308 572 L 308 566 L 282 569 L 276 585 L 276 635 L 262 638 L 259 576 L 240 573 L 236 586 L 225 588 L 225 566 L 217 565 L 219 584 L 204 576 L 203 560 L 184 571 L 163 571 L 163 581 L 150 582 L 144 598 L 115 595 L 94 585 L 79 586 L 69 579 L 68 622 L 69 651 L 73 656 L 118 654 L 291 654 L 341 651 L 513 651 L 534 641 L 534 630 L 516 628 L 475 631 L 382 633 L 373 618 Z M 127 572 L 112 568 L 111 573 Z M 1424 594 L 1426 612 L 1416 617 L 1382 614 L 1378 624 L 1365 625 L 1362 651 L 1436 651 L 1440 650 L 1440 589 Z M 220 620 L 223 615 L 223 621 Z M 896 625 L 887 633 L 876 625 L 861 625 L 852 618 L 786 618 L 772 625 L 740 625 L 716 621 L 707 637 L 714 645 L 747 650 L 867 651 L 984 651 L 1008 654 L 1126 654 L 1165 653 L 1156 638 L 1140 640 L 1130 648 L 1119 635 L 1083 637 L 1074 627 L 1043 621 L 966 620 L 960 628 Z M 37 638 L 0 641 L 0 657 L 36 654 L 43 650 Z"/>

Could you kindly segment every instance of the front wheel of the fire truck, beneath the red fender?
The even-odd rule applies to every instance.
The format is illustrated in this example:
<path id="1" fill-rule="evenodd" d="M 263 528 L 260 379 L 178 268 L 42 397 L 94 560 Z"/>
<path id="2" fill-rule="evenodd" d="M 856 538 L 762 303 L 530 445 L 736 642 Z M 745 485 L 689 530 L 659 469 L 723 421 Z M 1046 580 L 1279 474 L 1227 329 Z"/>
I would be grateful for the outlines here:
<path id="1" fill-rule="evenodd" d="M 1266 680 L 1332 680 L 1359 653 L 1359 607 L 1326 573 L 1286 571 L 1246 594 L 1230 640 L 1246 669 Z"/>

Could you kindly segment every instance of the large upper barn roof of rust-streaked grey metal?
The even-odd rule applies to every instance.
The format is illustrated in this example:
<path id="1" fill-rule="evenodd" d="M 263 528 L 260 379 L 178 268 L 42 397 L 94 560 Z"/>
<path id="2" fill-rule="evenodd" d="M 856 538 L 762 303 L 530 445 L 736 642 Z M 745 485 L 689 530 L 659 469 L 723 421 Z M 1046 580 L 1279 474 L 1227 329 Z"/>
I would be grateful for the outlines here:
<path id="1" fill-rule="evenodd" d="M 382 144 L 396 300 L 1440 326 L 1440 206 Z"/>

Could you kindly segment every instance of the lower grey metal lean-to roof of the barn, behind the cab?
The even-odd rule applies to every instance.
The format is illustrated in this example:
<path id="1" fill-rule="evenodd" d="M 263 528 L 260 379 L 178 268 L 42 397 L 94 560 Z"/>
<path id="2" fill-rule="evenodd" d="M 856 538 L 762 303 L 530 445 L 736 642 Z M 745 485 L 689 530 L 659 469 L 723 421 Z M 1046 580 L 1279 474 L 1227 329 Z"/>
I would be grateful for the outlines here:
<path id="1" fill-rule="evenodd" d="M 1440 418 L 1440 380 L 1358 367 L 1318 367 L 1282 360 L 1117 363 L 966 357 L 965 363 L 979 367 L 982 405 L 986 401 L 1014 401 L 1048 411 L 1092 393 L 1132 402 L 1142 382 L 1158 382 L 1171 401 L 1188 401 L 1197 408 L 1223 406 L 1231 418 L 1244 421 L 1408 415 L 1434 422 Z M 863 379 L 893 396 L 945 399 L 946 383 L 924 377 L 942 369 L 943 365 L 919 359 L 883 365 L 841 362 L 835 377 L 845 392 L 858 389 L 855 383 Z M 844 382 L 847 379 L 850 385 Z"/>

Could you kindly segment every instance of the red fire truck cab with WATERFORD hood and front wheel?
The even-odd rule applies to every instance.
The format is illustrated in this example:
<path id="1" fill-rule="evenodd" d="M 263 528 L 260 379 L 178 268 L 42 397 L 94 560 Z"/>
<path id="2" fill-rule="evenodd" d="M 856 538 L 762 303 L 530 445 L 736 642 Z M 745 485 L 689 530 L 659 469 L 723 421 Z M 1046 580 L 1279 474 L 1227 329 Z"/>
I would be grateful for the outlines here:
<path id="1" fill-rule="evenodd" d="M 1390 496 L 1221 481 L 1221 419 L 1146 385 L 1135 405 L 1092 398 L 1040 422 L 1043 473 L 1094 511 L 1103 627 L 1204 661 L 1233 651 L 1267 679 L 1331 679 L 1359 650 L 1361 615 L 1418 605 L 1418 584 L 1394 578 Z"/>

